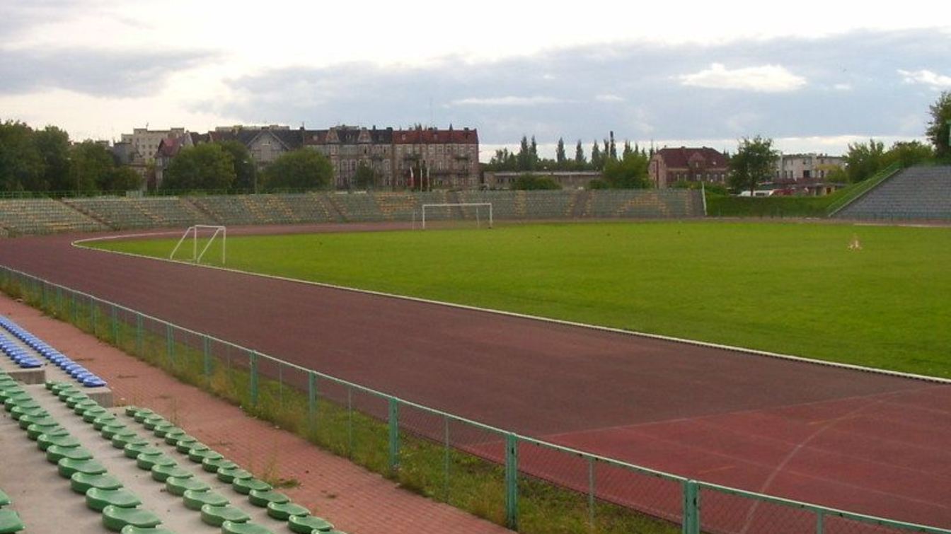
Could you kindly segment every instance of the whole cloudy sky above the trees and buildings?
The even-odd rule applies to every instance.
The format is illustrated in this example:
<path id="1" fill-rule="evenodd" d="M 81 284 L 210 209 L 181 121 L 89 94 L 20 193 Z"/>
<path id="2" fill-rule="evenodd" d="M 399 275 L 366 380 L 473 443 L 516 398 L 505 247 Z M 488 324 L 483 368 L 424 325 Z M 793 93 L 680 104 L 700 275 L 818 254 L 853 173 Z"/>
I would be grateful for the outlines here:
<path id="1" fill-rule="evenodd" d="M 951 90 L 951 4 L 0 0 L 0 120 L 476 127 L 788 152 L 916 139 Z M 842 4 L 842 6 L 839 6 Z"/>

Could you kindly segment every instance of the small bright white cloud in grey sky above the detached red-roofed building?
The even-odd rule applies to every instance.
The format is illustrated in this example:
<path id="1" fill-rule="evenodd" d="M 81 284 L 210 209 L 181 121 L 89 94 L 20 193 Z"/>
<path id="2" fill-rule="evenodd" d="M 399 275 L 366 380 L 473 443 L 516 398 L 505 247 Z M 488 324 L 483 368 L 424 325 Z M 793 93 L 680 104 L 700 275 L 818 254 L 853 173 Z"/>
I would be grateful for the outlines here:
<path id="1" fill-rule="evenodd" d="M 684 86 L 767 93 L 794 91 L 805 86 L 805 78 L 779 65 L 728 69 L 723 64 L 713 63 L 707 69 L 678 76 L 678 79 Z"/>

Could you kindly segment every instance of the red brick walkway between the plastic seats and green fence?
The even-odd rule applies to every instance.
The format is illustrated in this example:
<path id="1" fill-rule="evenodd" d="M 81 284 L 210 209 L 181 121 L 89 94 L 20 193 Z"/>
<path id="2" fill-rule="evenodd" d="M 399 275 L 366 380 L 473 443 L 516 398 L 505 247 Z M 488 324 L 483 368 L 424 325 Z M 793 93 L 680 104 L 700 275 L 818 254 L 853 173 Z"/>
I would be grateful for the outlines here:
<path id="1" fill-rule="evenodd" d="M 0 314 L 104 377 L 117 404 L 134 404 L 162 413 L 252 472 L 267 470 L 299 481 L 300 486 L 282 491 L 350 534 L 509 532 L 450 505 L 400 489 L 376 473 L 246 416 L 238 407 L 2 294 Z"/>

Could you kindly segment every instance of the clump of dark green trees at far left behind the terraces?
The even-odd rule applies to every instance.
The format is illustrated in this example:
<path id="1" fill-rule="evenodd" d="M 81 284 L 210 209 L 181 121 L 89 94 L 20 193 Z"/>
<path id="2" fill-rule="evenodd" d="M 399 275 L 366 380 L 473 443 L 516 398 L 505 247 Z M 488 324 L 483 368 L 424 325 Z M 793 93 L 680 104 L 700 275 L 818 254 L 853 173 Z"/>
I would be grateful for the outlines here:
<path id="1" fill-rule="evenodd" d="M 120 165 L 101 143 L 70 143 L 69 134 L 56 126 L 0 124 L 0 191 L 120 192 L 141 184 L 139 174 Z"/>

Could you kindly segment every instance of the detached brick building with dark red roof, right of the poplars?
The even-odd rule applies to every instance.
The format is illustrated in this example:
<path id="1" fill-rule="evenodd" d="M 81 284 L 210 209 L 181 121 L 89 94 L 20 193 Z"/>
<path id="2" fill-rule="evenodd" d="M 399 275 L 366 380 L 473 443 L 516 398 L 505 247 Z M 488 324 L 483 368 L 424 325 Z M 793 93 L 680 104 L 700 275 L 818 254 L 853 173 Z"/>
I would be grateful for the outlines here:
<path id="1" fill-rule="evenodd" d="M 727 173 L 727 156 L 707 146 L 661 148 L 650 158 L 648 166 L 650 180 L 659 189 L 670 187 L 677 181 L 726 183 Z"/>

